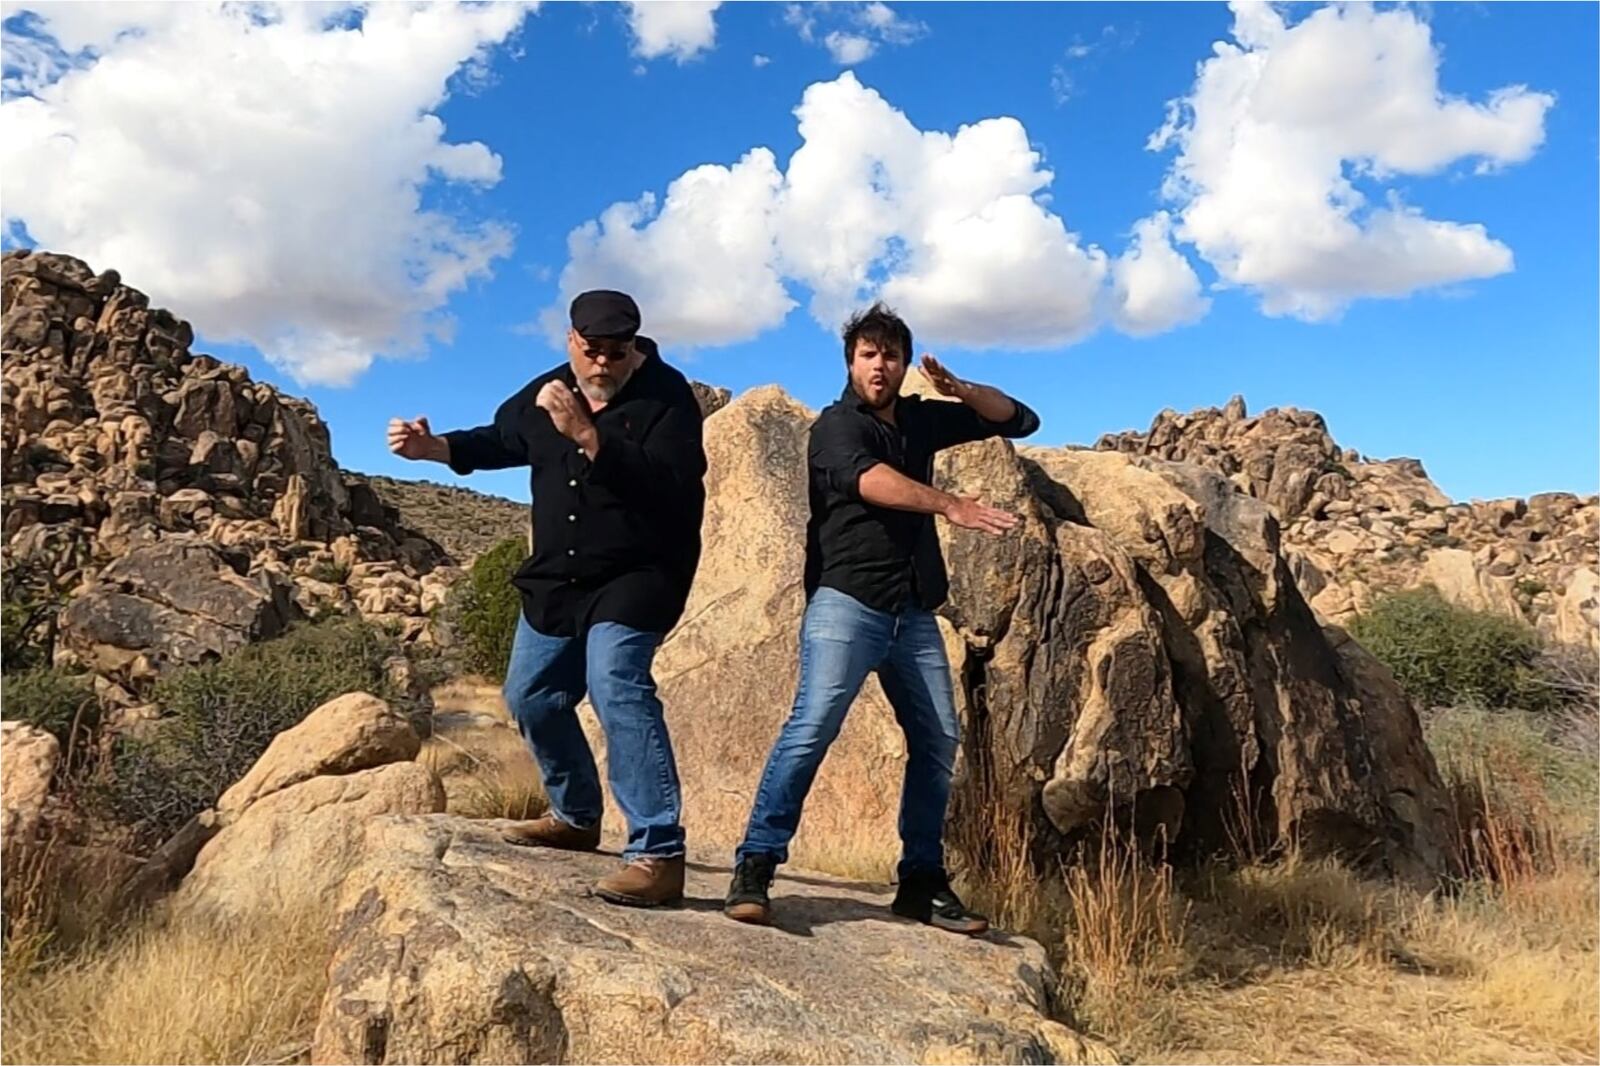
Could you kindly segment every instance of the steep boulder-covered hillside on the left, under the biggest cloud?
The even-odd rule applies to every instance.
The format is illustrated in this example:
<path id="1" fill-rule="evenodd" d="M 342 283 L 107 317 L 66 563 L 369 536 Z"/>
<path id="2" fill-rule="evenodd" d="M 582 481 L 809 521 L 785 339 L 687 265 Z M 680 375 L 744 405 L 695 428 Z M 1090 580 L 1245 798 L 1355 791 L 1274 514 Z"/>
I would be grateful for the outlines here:
<path id="1" fill-rule="evenodd" d="M 115 271 L 8 251 L 3 290 L 5 595 L 61 603 L 58 661 L 134 703 L 306 615 L 424 634 L 445 551 L 339 472 L 310 403 L 192 354 Z"/>

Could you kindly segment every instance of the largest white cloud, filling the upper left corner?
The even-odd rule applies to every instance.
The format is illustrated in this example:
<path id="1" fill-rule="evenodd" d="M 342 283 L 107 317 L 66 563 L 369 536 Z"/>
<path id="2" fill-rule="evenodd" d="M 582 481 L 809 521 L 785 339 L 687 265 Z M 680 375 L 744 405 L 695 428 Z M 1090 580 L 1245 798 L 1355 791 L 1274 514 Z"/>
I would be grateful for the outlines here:
<path id="1" fill-rule="evenodd" d="M 448 335 L 445 303 L 510 251 L 506 226 L 424 194 L 499 181 L 434 112 L 525 5 L 26 10 L 56 66 L 0 104 L 8 229 L 117 267 L 213 339 L 347 384 Z"/>

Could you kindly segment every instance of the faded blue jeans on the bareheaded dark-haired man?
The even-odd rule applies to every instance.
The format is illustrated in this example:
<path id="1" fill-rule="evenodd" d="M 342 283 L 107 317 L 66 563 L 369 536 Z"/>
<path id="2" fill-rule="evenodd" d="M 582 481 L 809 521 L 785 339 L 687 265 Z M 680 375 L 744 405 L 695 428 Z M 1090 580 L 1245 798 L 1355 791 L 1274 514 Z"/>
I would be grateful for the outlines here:
<path id="1" fill-rule="evenodd" d="M 806 603 L 800 626 L 800 688 L 766 759 L 736 858 L 766 853 L 787 861 L 806 792 L 845 712 L 874 671 L 894 707 L 894 720 L 906 731 L 899 876 L 944 868 L 944 812 L 960 722 L 939 626 L 930 611 L 875 611 L 827 587 Z"/>

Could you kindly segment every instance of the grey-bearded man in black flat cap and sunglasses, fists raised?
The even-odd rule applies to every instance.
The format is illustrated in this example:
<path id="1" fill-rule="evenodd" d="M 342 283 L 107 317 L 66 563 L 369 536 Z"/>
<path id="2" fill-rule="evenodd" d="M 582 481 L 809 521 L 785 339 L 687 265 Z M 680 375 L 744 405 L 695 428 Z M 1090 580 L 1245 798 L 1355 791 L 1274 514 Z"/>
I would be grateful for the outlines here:
<path id="1" fill-rule="evenodd" d="M 706 450 L 694 392 L 638 325 L 627 295 L 582 293 L 568 362 L 506 400 L 491 424 L 435 435 L 426 418 L 394 419 L 389 448 L 458 474 L 533 467 L 533 555 L 512 578 L 522 618 L 506 703 L 544 773 L 550 813 L 507 839 L 600 845 L 600 776 L 576 714 L 587 690 L 627 818 L 626 864 L 597 892 L 656 906 L 683 898 L 683 829 L 651 661 L 699 563 Z"/>

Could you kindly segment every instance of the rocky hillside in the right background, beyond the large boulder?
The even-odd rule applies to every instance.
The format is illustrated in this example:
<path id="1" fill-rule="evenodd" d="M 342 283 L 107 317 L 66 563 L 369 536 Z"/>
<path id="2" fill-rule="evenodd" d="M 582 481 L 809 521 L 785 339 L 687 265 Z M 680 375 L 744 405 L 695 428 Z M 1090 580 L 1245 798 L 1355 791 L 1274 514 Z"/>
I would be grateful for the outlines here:
<path id="1" fill-rule="evenodd" d="M 1549 639 L 1600 647 L 1600 496 L 1454 503 L 1416 459 L 1368 459 L 1341 448 L 1315 411 L 1251 416 L 1242 397 L 1162 411 L 1147 432 L 1096 447 L 1192 463 L 1270 504 L 1301 591 L 1330 621 L 1427 583 Z"/>

